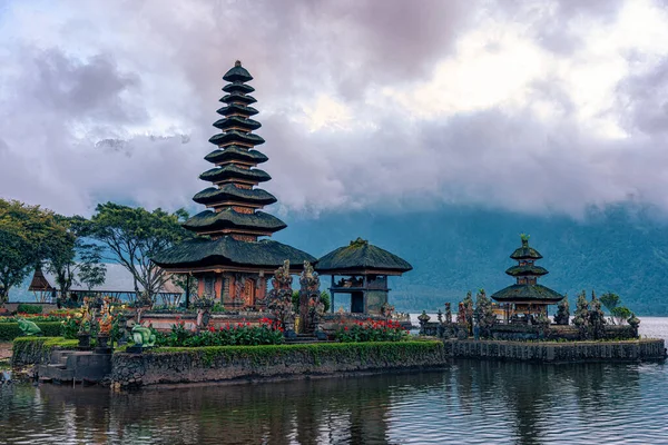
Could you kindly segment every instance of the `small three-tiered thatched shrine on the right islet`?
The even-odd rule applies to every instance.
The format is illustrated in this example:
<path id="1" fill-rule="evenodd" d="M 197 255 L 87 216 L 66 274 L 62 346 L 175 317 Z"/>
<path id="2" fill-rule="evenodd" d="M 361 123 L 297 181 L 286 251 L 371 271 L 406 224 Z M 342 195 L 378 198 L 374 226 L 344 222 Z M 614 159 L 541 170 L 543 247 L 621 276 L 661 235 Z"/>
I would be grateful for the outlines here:
<path id="1" fill-rule="evenodd" d="M 518 265 L 505 270 L 517 283 L 492 295 L 492 299 L 503 305 L 507 322 L 511 318 L 527 320 L 534 314 L 547 315 L 548 305 L 563 299 L 563 295 L 537 283 L 538 277 L 547 275 L 548 270 L 534 264 L 542 255 L 529 246 L 529 236 L 521 237 L 522 246 L 510 256 Z"/>

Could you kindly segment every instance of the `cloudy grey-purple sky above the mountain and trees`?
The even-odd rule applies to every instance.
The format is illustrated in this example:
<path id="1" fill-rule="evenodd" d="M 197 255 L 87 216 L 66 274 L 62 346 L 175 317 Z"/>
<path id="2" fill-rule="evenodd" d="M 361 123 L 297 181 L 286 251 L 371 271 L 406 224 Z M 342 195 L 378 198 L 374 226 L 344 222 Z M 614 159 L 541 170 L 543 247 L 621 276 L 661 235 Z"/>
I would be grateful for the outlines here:
<path id="1" fill-rule="evenodd" d="M 667 3 L 3 0 L 0 196 L 193 206 L 240 59 L 282 212 L 668 210 Z"/>

